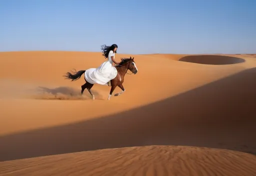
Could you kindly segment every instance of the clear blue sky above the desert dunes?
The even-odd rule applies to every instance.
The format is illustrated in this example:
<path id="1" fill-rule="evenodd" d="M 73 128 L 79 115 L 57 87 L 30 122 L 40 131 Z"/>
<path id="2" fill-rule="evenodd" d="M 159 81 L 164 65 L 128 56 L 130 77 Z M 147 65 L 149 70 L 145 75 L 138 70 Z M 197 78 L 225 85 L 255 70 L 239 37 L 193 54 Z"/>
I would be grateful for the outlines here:
<path id="1" fill-rule="evenodd" d="M 256 53 L 256 0 L 0 0 L 0 51 Z"/>

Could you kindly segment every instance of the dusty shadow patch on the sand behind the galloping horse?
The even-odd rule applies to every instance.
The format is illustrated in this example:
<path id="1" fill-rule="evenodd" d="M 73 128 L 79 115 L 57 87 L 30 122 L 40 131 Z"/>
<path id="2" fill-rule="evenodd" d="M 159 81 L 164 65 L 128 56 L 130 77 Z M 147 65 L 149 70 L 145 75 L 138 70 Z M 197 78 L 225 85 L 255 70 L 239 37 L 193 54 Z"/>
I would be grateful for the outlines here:
<path id="1" fill-rule="evenodd" d="M 95 91 L 91 90 L 92 93 L 100 97 L 100 94 Z M 32 96 L 35 99 L 91 99 L 90 94 L 87 91 L 84 91 L 83 96 L 81 96 L 81 90 L 75 89 L 72 87 L 61 86 L 56 88 L 47 88 L 43 86 L 38 86 L 36 89 L 36 94 Z"/>

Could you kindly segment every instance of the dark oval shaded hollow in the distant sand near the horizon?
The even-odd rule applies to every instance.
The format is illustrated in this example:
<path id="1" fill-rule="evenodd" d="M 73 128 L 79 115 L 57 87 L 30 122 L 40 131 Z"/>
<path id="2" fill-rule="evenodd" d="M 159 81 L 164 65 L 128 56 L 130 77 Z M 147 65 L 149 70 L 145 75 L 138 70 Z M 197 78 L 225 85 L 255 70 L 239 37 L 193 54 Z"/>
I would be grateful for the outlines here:
<path id="1" fill-rule="evenodd" d="M 179 61 L 186 61 L 200 64 L 224 65 L 241 63 L 245 60 L 238 57 L 224 56 L 224 55 L 187 55 L 179 59 Z"/>

